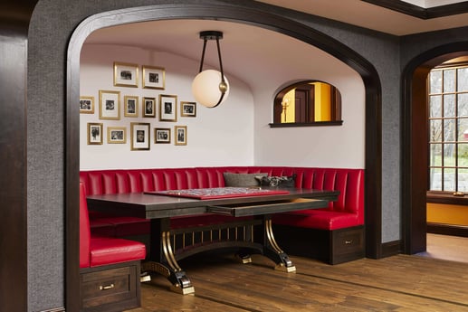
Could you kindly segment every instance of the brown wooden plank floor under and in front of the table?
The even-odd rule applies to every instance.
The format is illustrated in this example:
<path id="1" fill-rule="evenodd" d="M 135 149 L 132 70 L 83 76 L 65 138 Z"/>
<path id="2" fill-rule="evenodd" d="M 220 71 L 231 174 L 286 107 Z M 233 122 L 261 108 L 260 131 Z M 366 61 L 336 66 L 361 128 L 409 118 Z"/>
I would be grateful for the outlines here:
<path id="1" fill-rule="evenodd" d="M 195 295 L 174 293 L 157 276 L 142 284 L 142 307 L 131 312 L 468 311 L 468 263 L 435 259 L 435 251 L 334 266 L 291 260 L 296 273 L 274 270 L 262 256 L 251 264 L 231 255 L 190 258 L 180 264 Z"/>

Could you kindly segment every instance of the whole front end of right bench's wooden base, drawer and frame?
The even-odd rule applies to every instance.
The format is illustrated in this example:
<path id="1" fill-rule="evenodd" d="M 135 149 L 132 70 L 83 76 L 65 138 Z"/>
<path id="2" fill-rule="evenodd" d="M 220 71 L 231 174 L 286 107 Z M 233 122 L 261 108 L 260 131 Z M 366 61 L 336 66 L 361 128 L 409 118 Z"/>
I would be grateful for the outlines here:
<path id="1" fill-rule="evenodd" d="M 330 232 L 330 264 L 364 257 L 364 227 L 352 227 Z"/>

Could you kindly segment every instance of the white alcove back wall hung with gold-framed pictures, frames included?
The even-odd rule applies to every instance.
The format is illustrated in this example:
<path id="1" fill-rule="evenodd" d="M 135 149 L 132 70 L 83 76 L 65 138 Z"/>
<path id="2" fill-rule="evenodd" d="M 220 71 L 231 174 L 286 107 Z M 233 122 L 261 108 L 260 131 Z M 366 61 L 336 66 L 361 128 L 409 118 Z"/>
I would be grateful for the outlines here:
<path id="1" fill-rule="evenodd" d="M 251 90 L 233 78 L 236 91 L 223 106 L 207 109 L 191 90 L 198 70 L 198 61 L 173 53 L 84 44 L 81 169 L 216 165 L 221 159 L 251 165 Z M 89 123 L 102 124 L 101 144 L 88 144 Z M 148 131 L 143 129 L 143 142 L 137 142 L 139 126 L 131 127 L 135 123 L 149 124 Z"/>

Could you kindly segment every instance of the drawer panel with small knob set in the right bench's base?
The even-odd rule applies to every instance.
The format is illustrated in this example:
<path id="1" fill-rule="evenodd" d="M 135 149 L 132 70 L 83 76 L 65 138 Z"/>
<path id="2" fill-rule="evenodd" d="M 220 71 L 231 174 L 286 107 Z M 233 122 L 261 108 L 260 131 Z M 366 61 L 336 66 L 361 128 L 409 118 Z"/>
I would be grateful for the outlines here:
<path id="1" fill-rule="evenodd" d="M 364 252 L 364 229 L 345 229 L 335 232 L 333 237 L 334 256 Z"/>

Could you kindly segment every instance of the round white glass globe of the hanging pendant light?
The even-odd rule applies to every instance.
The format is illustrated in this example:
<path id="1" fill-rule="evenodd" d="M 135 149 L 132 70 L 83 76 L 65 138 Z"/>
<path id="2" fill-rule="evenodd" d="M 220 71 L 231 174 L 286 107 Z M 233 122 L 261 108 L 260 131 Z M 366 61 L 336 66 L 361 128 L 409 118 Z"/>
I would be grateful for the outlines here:
<path id="1" fill-rule="evenodd" d="M 227 90 L 221 103 L 227 99 L 229 94 L 229 82 L 226 80 L 225 76 L 224 81 L 227 84 Z M 192 93 L 194 94 L 196 101 L 207 108 L 213 108 L 216 106 L 222 95 L 221 90 L 219 90 L 220 83 L 221 72 L 219 71 L 206 70 L 198 73 L 192 82 Z"/>

